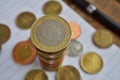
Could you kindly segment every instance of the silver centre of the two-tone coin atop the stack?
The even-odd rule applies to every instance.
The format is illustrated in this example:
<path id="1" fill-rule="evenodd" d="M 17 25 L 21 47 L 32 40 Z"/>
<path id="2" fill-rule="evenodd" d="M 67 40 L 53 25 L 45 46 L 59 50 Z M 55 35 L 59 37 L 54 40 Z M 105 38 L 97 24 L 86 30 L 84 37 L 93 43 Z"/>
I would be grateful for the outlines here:
<path id="1" fill-rule="evenodd" d="M 62 24 L 55 20 L 46 20 L 37 30 L 38 40 L 44 45 L 55 46 L 65 38 Z"/>

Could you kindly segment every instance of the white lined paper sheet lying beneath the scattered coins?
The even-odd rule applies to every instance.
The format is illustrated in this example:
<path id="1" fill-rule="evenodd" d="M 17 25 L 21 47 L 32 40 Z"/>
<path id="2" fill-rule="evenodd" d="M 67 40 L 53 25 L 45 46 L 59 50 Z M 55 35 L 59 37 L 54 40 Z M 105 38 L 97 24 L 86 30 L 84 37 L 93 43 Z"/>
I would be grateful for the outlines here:
<path id="1" fill-rule="evenodd" d="M 2 45 L 0 52 L 0 80 L 24 80 L 27 72 L 33 69 L 42 69 L 38 59 L 29 65 L 16 64 L 12 59 L 12 50 L 14 46 L 30 37 L 30 30 L 21 30 L 15 25 L 16 16 L 24 11 L 33 12 L 37 18 L 43 16 L 42 7 L 48 0 L 1 0 L 0 1 L 0 23 L 6 24 L 11 30 L 10 39 Z M 67 21 L 77 22 L 82 29 L 81 36 L 77 39 L 83 44 L 83 55 L 88 51 L 95 51 L 102 56 L 104 61 L 103 69 L 97 74 L 87 74 L 79 66 L 81 57 L 65 56 L 62 66 L 75 66 L 83 80 L 119 80 L 120 79 L 120 48 L 115 44 L 107 49 L 100 49 L 92 43 L 92 34 L 96 31 L 81 16 L 75 13 L 63 1 L 58 0 L 62 5 L 60 16 Z M 56 72 L 45 71 L 49 80 L 56 80 Z"/>

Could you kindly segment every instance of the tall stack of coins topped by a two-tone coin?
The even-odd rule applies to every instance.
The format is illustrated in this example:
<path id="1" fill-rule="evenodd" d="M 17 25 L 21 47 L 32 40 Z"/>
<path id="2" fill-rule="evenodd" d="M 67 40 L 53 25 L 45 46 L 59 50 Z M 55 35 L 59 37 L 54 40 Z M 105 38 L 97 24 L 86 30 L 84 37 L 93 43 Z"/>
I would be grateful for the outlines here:
<path id="1" fill-rule="evenodd" d="M 32 25 L 31 40 L 38 51 L 41 66 L 57 70 L 71 39 L 71 29 L 66 20 L 57 15 L 46 15 Z"/>

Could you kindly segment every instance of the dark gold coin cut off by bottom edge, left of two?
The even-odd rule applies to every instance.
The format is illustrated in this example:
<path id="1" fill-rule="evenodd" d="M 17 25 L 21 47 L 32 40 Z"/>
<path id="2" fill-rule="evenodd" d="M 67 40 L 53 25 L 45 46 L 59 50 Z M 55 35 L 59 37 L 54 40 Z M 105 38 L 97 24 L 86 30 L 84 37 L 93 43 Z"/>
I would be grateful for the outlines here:
<path id="1" fill-rule="evenodd" d="M 35 69 L 27 73 L 25 80 L 48 80 L 48 77 L 44 71 Z"/>

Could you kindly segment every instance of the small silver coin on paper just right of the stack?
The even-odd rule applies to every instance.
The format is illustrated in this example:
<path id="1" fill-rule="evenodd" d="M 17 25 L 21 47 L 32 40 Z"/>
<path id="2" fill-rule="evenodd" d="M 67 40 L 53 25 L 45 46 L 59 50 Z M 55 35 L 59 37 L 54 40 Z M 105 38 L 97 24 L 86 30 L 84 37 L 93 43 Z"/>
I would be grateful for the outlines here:
<path id="1" fill-rule="evenodd" d="M 78 56 L 83 51 L 83 46 L 79 41 L 72 40 L 67 48 L 67 55 Z"/>

